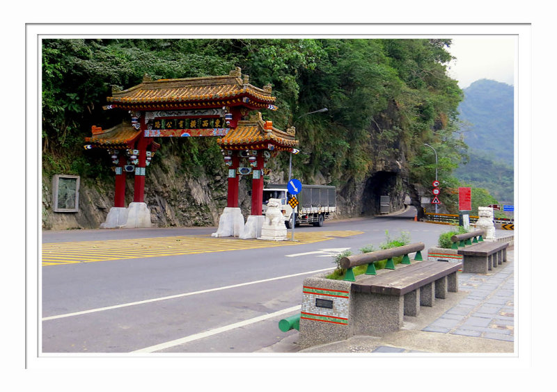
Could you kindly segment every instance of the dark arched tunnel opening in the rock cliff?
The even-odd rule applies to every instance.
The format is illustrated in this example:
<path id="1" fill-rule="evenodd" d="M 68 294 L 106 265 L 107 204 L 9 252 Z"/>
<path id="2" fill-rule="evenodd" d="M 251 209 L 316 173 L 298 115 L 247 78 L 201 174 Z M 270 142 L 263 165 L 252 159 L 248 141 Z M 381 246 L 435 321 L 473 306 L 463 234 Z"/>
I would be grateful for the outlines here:
<path id="1" fill-rule="evenodd" d="M 375 172 L 366 181 L 363 189 L 361 215 L 379 215 L 382 196 L 390 196 L 391 211 L 398 210 L 400 208 L 399 199 L 402 199 L 402 203 L 404 202 L 402 191 L 397 192 L 398 188 L 402 190 L 398 182 L 398 176 L 394 172 Z"/>

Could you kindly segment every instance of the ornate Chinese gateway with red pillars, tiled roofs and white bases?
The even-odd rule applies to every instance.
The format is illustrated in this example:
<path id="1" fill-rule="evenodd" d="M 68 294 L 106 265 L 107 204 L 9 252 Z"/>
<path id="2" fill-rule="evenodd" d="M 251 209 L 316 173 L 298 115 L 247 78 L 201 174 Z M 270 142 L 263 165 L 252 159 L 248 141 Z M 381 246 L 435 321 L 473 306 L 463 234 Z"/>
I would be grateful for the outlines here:
<path id="1" fill-rule="evenodd" d="M 105 109 L 130 113 L 110 129 L 93 126 L 86 149 L 106 149 L 115 165 L 114 206 L 103 228 L 150 227 L 144 202 L 146 168 L 160 147 L 154 138 L 217 137 L 228 166 L 228 203 L 213 236 L 258 238 L 262 227 L 263 172 L 267 161 L 298 145 L 295 129 L 281 131 L 260 109 L 276 110 L 270 85 L 256 88 L 240 68 L 224 76 L 150 80 L 113 91 Z M 125 179 L 134 175 L 134 202 L 125 206 Z M 244 224 L 238 207 L 240 175 L 252 178 L 251 215 Z"/>

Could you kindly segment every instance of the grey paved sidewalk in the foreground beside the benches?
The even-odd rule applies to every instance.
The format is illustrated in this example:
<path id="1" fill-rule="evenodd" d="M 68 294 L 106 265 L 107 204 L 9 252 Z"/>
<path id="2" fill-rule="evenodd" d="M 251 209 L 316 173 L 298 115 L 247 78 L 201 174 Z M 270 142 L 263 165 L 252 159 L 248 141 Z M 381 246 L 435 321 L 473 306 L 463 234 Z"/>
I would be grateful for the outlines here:
<path id="1" fill-rule="evenodd" d="M 259 352 L 514 352 L 514 255 L 487 275 L 458 272 L 459 292 L 421 307 L 418 317 L 404 316 L 398 332 L 353 336 L 346 341 L 299 350 L 299 332 Z"/>

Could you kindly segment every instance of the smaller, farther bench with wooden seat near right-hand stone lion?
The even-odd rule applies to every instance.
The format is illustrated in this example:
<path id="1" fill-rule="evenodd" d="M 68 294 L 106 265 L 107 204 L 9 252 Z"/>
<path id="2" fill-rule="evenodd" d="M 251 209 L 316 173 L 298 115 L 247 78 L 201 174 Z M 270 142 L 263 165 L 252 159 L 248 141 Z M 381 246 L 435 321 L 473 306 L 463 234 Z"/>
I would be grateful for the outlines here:
<path id="1" fill-rule="evenodd" d="M 507 261 L 508 243 L 483 242 L 458 250 L 462 254 L 462 272 L 487 274 Z"/>

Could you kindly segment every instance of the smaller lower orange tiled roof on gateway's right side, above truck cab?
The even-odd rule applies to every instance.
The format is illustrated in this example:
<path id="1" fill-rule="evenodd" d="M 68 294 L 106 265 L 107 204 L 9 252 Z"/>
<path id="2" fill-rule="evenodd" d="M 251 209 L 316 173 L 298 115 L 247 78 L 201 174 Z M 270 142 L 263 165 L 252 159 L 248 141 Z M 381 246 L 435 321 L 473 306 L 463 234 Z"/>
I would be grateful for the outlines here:
<path id="1" fill-rule="evenodd" d="M 299 144 L 295 139 L 296 130 L 281 131 L 272 122 L 263 121 L 260 112 L 251 115 L 249 120 L 240 120 L 235 129 L 230 129 L 217 144 L 223 149 L 268 149 L 269 144 L 276 149 L 290 149 Z"/>

